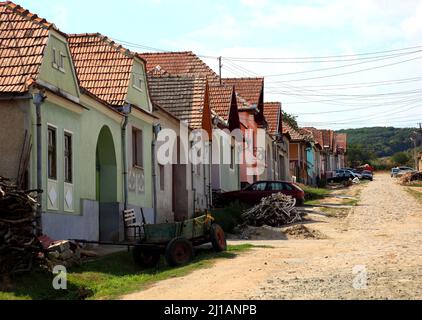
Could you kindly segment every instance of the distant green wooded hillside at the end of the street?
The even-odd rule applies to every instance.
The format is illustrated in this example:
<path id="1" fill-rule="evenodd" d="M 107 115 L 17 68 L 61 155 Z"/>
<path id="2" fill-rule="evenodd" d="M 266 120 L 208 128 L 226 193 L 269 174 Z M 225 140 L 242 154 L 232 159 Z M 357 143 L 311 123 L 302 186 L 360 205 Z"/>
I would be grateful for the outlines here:
<path id="1" fill-rule="evenodd" d="M 412 148 L 409 137 L 413 128 L 373 127 L 339 130 L 347 133 L 348 145 L 362 145 L 366 151 L 373 152 L 377 157 L 392 156 L 396 152 Z"/>

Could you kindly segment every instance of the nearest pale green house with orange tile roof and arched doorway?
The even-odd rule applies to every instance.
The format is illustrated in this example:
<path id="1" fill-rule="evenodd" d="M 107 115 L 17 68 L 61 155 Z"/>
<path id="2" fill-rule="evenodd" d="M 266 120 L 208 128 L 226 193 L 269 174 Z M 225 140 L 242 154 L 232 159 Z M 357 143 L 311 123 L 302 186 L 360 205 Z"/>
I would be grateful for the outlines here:
<path id="1" fill-rule="evenodd" d="M 119 211 L 102 209 L 124 201 L 123 115 L 79 86 L 54 25 L 11 2 L 0 21 L 0 135 L 13 137 L 0 143 L 0 175 L 43 190 L 38 222 L 51 237 L 118 239 Z"/>

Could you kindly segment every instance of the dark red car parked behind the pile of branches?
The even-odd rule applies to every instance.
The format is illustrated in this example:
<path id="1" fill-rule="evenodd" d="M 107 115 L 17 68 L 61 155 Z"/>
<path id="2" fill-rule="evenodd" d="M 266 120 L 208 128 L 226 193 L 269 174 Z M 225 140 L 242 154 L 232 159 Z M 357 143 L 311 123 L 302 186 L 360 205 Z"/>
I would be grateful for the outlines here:
<path id="1" fill-rule="evenodd" d="M 285 181 L 255 182 L 243 190 L 223 193 L 221 200 L 224 204 L 239 200 L 250 205 L 256 205 L 262 198 L 269 197 L 274 193 L 283 193 L 296 198 L 297 205 L 303 205 L 305 202 L 305 192 L 299 186 Z"/>

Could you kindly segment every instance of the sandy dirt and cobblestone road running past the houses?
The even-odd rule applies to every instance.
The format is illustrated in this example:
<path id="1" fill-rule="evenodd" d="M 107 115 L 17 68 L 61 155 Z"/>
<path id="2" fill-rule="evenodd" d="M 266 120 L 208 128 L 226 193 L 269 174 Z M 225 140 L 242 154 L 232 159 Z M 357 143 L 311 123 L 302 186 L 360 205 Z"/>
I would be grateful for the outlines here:
<path id="1" fill-rule="evenodd" d="M 273 248 L 123 299 L 422 299 L 422 206 L 388 175 L 347 217 L 312 220 L 327 239 L 254 242 Z"/>

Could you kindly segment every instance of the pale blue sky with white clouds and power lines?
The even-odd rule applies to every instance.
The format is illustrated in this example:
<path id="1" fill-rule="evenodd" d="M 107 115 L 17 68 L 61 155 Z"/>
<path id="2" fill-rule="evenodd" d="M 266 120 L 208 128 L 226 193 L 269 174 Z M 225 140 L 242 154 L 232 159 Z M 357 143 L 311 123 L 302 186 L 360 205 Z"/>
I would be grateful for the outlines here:
<path id="1" fill-rule="evenodd" d="M 266 100 L 281 101 L 288 112 L 299 115 L 302 125 L 338 129 L 422 122 L 422 106 L 417 103 L 422 79 L 359 85 L 422 77 L 422 53 L 416 49 L 412 54 L 314 72 L 308 71 L 363 60 L 306 64 L 224 60 L 353 55 L 419 46 L 422 1 L 21 0 L 18 4 L 67 33 L 100 32 L 163 50 L 192 50 L 213 57 L 204 60 L 215 70 L 214 57 L 223 56 L 224 76 L 270 76 L 265 82 Z M 399 63 L 407 59 L 414 60 Z M 395 65 L 355 72 L 385 64 Z M 350 74 L 331 77 L 338 73 Z M 296 81 L 321 76 L 329 77 Z M 366 121 L 360 120 L 362 115 Z"/>

